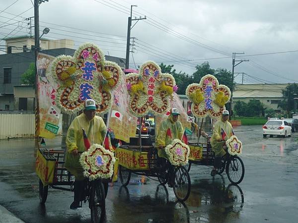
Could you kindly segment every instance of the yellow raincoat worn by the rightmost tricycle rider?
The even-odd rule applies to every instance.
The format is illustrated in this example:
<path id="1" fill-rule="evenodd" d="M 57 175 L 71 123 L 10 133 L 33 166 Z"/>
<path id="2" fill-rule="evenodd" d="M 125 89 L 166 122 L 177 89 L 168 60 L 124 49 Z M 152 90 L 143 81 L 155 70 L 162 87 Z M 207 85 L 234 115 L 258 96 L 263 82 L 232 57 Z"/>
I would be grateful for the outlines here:
<path id="1" fill-rule="evenodd" d="M 224 130 L 224 139 L 222 134 L 222 129 Z M 213 151 L 215 152 L 216 157 L 222 157 L 226 154 L 223 146 L 224 142 L 219 142 L 218 140 L 224 140 L 226 141 L 233 135 L 232 132 L 232 125 L 228 121 L 224 121 L 221 117 L 220 120 L 218 120 L 214 125 L 213 135 L 211 137 L 211 146 Z"/>

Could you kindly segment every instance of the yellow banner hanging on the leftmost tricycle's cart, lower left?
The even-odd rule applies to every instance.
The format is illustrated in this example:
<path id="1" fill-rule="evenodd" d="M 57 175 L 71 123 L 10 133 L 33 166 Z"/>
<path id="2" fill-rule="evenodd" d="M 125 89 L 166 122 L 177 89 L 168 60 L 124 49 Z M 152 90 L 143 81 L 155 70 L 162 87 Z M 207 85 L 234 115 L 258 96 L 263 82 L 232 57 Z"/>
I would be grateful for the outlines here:
<path id="1" fill-rule="evenodd" d="M 38 150 L 35 163 L 35 172 L 44 186 L 53 183 L 56 161 L 47 161 Z"/>

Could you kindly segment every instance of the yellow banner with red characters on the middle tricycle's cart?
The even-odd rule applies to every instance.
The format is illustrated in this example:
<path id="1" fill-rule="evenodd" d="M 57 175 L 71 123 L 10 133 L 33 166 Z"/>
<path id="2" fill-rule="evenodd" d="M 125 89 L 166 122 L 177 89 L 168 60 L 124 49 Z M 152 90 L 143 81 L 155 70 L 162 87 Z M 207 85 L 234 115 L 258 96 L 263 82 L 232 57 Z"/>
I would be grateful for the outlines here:
<path id="1" fill-rule="evenodd" d="M 116 157 L 119 159 L 119 165 L 128 169 L 149 169 L 147 152 L 117 148 Z"/>

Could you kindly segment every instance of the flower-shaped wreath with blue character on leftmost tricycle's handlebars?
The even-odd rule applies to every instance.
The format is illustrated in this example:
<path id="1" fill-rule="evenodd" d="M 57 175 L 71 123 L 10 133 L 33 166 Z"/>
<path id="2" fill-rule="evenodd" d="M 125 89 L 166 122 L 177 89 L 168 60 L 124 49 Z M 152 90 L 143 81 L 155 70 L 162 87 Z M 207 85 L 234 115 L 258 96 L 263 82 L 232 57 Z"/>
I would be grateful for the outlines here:
<path id="1" fill-rule="evenodd" d="M 111 178 L 115 161 L 114 154 L 99 144 L 93 144 L 79 158 L 79 163 L 84 169 L 83 174 L 90 180 Z"/>

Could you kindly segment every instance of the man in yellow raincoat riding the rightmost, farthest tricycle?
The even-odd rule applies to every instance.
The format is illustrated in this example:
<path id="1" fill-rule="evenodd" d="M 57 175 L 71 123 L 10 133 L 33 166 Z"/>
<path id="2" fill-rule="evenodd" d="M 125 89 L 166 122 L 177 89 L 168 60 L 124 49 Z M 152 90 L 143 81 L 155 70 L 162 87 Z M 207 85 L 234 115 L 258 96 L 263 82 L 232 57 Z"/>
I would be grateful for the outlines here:
<path id="1" fill-rule="evenodd" d="M 233 135 L 232 125 L 227 121 L 228 117 L 228 111 L 224 110 L 221 119 L 214 125 L 211 137 L 211 146 L 215 153 L 214 167 L 211 171 L 212 176 L 217 173 L 217 168 L 221 165 L 221 159 L 226 154 L 225 141 Z"/>

